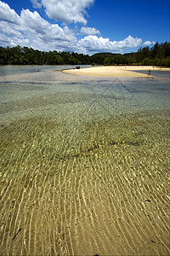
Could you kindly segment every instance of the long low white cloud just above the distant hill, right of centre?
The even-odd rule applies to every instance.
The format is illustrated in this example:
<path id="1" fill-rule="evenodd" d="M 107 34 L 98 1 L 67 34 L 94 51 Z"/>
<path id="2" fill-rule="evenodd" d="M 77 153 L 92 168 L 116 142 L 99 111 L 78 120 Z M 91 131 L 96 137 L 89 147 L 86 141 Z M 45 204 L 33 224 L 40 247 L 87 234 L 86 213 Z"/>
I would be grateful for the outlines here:
<path id="1" fill-rule="evenodd" d="M 141 38 L 128 36 L 122 41 L 111 41 L 109 38 L 87 36 L 81 39 L 81 44 L 89 51 L 122 51 L 126 48 L 136 48 L 142 44 Z"/>

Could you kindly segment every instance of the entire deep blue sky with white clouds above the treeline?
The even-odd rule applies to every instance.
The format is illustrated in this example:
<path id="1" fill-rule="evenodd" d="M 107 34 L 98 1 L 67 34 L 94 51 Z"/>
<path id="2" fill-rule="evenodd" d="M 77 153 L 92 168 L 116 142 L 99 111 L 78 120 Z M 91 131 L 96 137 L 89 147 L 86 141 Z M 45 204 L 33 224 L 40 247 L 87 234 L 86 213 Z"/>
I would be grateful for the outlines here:
<path id="1" fill-rule="evenodd" d="M 169 0 L 0 1 L 0 45 L 126 53 L 169 42 Z"/>

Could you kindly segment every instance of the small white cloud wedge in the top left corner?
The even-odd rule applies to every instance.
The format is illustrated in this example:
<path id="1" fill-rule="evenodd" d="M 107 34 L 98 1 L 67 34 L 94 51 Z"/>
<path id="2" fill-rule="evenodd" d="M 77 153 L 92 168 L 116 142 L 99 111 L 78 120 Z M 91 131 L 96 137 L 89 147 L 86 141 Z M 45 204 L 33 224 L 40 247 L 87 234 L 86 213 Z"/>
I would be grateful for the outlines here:
<path id="1" fill-rule="evenodd" d="M 8 21 L 14 24 L 20 24 L 20 16 L 17 15 L 14 9 L 10 9 L 7 3 L 0 1 L 0 20 Z"/>

